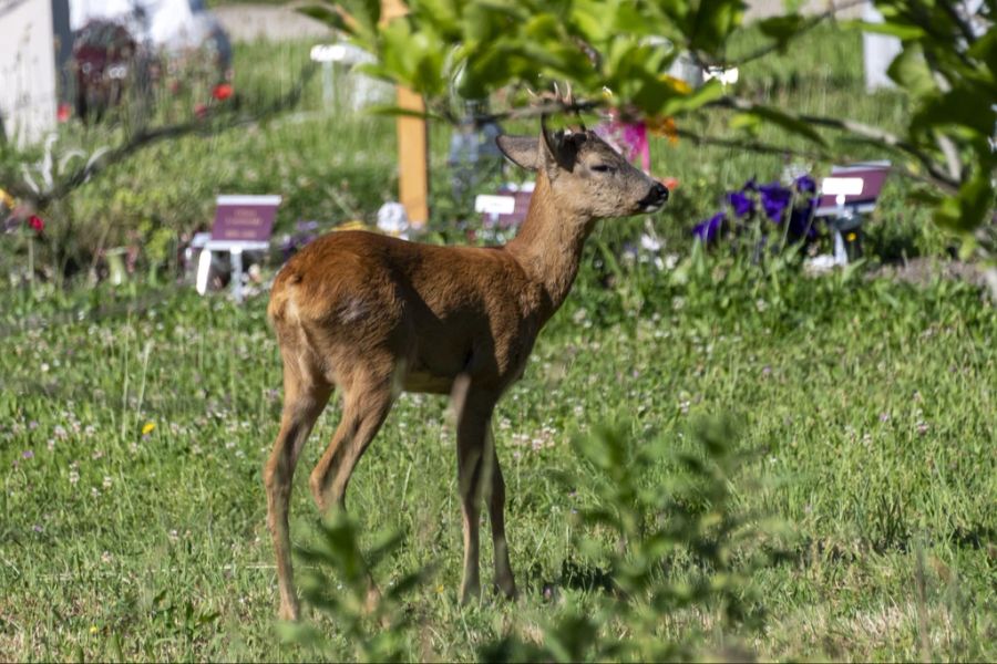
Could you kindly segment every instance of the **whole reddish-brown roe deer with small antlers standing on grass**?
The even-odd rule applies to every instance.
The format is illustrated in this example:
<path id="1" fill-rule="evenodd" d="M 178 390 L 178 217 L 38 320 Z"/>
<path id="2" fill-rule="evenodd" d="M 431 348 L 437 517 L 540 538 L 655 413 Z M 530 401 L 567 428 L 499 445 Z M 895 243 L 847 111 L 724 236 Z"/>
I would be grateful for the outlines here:
<path id="1" fill-rule="evenodd" d="M 480 594 L 483 494 L 490 496 L 495 585 L 508 596 L 516 592 L 505 485 L 491 434 L 495 403 L 523 375 L 537 333 L 567 297 L 595 220 L 656 211 L 668 189 L 588 131 L 552 134 L 542 120 L 539 137 L 500 136 L 497 143 L 512 162 L 536 172 L 526 219 L 504 247 L 333 232 L 291 258 L 274 282 L 267 313 L 284 360 L 284 414 L 265 483 L 281 618 L 299 613 L 287 518 L 291 477 L 335 387 L 342 392 L 342 419 L 310 479 L 319 509 L 343 504 L 350 475 L 399 392 L 453 394 L 461 601 Z"/>

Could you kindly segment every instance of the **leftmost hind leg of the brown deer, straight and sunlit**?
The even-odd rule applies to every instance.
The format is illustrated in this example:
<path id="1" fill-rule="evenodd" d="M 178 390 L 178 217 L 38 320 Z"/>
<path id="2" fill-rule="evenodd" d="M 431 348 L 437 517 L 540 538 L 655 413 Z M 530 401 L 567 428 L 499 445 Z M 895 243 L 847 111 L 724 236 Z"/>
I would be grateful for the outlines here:
<path id="1" fill-rule="evenodd" d="M 331 393 L 329 383 L 307 371 L 289 351 L 284 353 L 284 413 L 280 432 L 264 469 L 264 484 L 267 491 L 267 527 L 277 557 L 279 615 L 285 620 L 297 620 L 299 615 L 287 519 L 291 480 L 301 448 Z"/>

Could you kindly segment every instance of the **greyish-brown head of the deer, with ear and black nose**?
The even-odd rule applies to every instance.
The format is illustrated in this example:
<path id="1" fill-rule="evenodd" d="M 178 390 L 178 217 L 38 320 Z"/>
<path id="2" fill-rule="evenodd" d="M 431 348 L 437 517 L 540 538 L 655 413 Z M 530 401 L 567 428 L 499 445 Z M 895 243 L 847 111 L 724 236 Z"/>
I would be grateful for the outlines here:
<path id="1" fill-rule="evenodd" d="M 574 215 L 599 219 L 654 212 L 668 200 L 668 188 L 634 167 L 595 133 L 551 132 L 498 136 L 498 148 L 515 164 L 542 172 L 556 204 Z"/>

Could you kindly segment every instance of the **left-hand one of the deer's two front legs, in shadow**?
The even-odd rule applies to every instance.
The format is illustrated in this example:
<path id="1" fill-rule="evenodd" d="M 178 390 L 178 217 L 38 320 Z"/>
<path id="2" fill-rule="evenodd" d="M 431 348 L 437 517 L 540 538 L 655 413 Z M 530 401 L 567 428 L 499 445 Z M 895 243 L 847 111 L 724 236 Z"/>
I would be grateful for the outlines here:
<path id="1" fill-rule="evenodd" d="M 458 416 L 458 487 L 464 529 L 464 574 L 461 603 L 481 596 L 479 571 L 482 478 L 485 476 L 485 439 L 495 407 L 495 398 L 469 388 L 463 398 L 455 395 Z M 491 458 L 487 458 L 491 465 Z M 489 470 L 490 473 L 490 470 Z"/>

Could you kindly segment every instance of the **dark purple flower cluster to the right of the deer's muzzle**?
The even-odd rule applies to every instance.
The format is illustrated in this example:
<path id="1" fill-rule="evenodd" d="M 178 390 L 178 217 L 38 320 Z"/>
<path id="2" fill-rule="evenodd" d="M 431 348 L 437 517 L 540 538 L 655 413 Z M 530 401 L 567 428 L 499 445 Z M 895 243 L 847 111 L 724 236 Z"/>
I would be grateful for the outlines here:
<path id="1" fill-rule="evenodd" d="M 726 231 L 737 231 L 760 216 L 785 227 L 791 240 L 813 239 L 813 210 L 816 206 L 816 183 L 809 175 L 798 177 L 791 186 L 778 181 L 759 185 L 754 178 L 740 189 L 723 197 L 726 209 L 692 228 L 692 234 L 703 242 L 712 242 Z"/>

